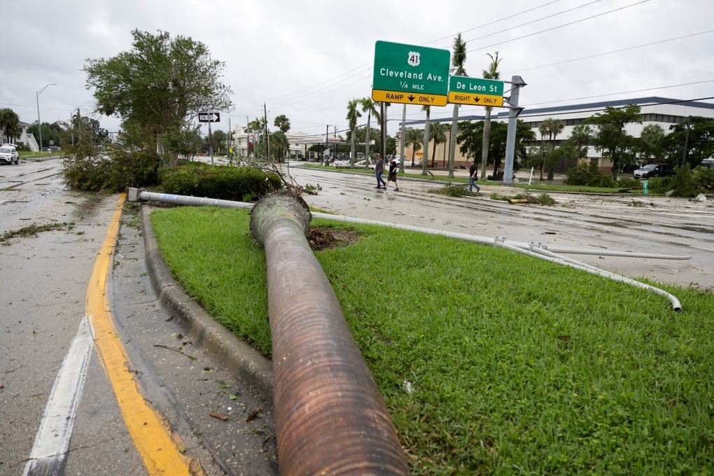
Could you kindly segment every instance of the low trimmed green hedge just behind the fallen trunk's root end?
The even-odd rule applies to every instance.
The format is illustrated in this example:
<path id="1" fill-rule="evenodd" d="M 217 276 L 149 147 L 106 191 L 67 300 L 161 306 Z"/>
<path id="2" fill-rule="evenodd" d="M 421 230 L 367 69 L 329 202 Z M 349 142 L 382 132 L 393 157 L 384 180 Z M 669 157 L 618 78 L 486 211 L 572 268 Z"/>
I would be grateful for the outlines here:
<path id="1" fill-rule="evenodd" d="M 203 163 L 161 170 L 161 191 L 231 201 L 252 201 L 282 188 L 276 173 L 251 167 L 208 166 Z"/>

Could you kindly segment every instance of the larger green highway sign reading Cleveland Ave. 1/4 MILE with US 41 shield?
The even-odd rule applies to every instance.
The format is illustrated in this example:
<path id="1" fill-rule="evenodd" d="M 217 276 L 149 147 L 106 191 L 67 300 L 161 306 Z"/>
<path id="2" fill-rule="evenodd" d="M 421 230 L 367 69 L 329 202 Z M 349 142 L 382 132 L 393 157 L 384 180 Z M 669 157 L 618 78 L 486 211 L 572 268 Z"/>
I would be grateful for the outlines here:
<path id="1" fill-rule="evenodd" d="M 374 47 L 372 98 L 388 103 L 446 106 L 451 54 L 388 41 Z"/>

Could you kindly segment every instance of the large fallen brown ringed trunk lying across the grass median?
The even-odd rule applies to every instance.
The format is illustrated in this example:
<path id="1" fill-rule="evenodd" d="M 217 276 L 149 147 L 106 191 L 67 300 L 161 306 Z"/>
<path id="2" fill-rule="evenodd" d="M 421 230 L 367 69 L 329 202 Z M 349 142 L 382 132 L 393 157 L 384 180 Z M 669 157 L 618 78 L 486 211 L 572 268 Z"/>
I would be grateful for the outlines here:
<path id="1" fill-rule="evenodd" d="M 407 475 L 386 405 L 306 240 L 310 218 L 301 198 L 282 194 L 251 214 L 266 250 L 280 473 Z"/>

